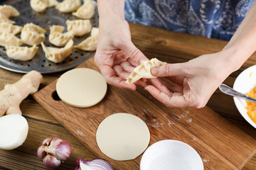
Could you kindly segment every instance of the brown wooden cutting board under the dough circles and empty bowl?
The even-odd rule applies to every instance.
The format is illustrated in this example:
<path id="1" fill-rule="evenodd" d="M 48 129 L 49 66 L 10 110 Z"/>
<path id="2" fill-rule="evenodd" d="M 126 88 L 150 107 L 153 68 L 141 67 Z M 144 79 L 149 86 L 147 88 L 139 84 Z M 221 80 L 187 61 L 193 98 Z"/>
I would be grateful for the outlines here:
<path id="1" fill-rule="evenodd" d="M 79 67 L 99 71 L 93 58 Z M 142 155 L 131 161 L 118 162 L 106 157 L 97 147 L 97 127 L 113 113 L 132 113 L 142 118 L 151 133 L 149 145 L 159 140 L 187 143 L 200 154 L 205 169 L 242 169 L 256 153 L 256 140 L 208 107 L 167 108 L 142 88 L 131 91 L 108 85 L 107 95 L 100 103 L 90 108 L 74 108 L 59 100 L 55 92 L 56 81 L 33 97 L 97 157 L 109 161 L 114 169 L 139 169 Z"/>

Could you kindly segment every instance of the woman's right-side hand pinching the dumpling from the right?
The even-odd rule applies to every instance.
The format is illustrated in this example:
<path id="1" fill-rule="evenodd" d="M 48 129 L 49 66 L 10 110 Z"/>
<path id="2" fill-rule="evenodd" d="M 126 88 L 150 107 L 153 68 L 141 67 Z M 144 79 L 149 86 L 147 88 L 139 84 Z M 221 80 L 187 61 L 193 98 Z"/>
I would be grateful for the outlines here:
<path id="1" fill-rule="evenodd" d="M 233 68 L 228 68 L 230 61 L 220 60 L 223 55 L 225 52 L 217 52 L 184 63 L 155 67 L 151 73 L 166 80 L 151 79 L 152 85 L 145 89 L 166 106 L 202 108 L 220 83 L 233 72 Z"/>

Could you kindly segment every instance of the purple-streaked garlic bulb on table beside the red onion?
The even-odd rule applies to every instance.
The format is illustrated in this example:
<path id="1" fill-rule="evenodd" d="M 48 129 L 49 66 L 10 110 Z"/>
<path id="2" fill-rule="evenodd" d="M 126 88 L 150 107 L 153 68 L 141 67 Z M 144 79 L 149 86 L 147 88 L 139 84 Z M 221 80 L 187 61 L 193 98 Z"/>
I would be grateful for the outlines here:
<path id="1" fill-rule="evenodd" d="M 58 137 L 43 140 L 41 147 L 38 148 L 37 155 L 43 159 L 43 164 L 49 169 L 55 169 L 60 163 L 68 159 L 71 147 L 68 142 Z"/>

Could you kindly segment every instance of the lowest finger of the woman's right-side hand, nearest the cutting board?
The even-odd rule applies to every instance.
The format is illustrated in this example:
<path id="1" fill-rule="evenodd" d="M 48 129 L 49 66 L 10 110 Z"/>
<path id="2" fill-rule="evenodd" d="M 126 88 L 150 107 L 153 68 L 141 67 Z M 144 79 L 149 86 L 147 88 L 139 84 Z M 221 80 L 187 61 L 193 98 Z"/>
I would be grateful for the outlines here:
<path id="1" fill-rule="evenodd" d="M 188 107 L 189 103 L 184 98 L 183 94 L 174 93 L 172 96 L 165 94 L 159 89 L 156 89 L 154 86 L 146 86 L 145 89 L 149 91 L 149 93 L 154 96 L 157 100 L 164 103 L 166 106 L 171 108 L 184 108 Z"/>

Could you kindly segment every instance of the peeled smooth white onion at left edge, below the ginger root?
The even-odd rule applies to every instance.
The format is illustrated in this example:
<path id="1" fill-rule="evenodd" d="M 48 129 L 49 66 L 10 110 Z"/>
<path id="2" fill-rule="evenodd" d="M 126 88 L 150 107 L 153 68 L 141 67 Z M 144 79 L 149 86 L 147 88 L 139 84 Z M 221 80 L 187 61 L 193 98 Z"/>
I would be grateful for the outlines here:
<path id="1" fill-rule="evenodd" d="M 0 149 L 15 149 L 23 144 L 28 135 L 28 122 L 19 114 L 0 118 Z"/>

